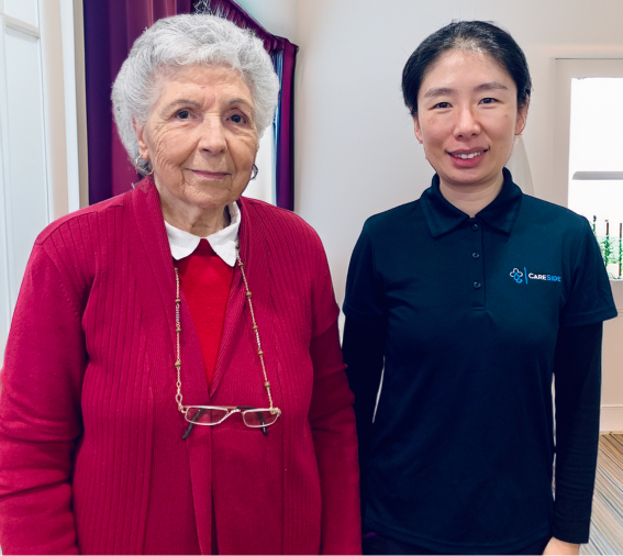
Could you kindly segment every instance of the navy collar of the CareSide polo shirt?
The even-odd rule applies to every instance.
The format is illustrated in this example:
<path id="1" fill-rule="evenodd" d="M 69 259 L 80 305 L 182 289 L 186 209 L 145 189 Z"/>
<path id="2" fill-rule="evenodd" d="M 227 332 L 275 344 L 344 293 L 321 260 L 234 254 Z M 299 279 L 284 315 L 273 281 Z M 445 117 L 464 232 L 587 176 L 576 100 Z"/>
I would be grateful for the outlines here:
<path id="1" fill-rule="evenodd" d="M 511 173 L 502 169 L 504 182 L 496 199 L 476 214 L 487 222 L 491 227 L 510 235 L 513 224 L 519 215 L 522 191 L 513 184 Z M 437 237 L 443 235 L 466 220 L 469 215 L 448 202 L 440 190 L 440 176 L 435 174 L 433 182 L 420 198 L 422 212 L 429 224 L 431 235 Z"/>

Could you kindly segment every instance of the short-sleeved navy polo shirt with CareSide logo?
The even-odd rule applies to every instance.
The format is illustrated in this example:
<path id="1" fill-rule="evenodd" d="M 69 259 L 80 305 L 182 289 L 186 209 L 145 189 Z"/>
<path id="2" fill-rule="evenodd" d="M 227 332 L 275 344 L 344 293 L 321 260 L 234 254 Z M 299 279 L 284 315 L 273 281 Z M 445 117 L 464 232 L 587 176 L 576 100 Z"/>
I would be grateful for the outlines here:
<path id="1" fill-rule="evenodd" d="M 435 176 L 366 222 L 344 312 L 387 326 L 366 523 L 448 553 L 548 535 L 558 329 L 616 315 L 588 221 L 523 194 L 507 169 L 471 219 Z"/>

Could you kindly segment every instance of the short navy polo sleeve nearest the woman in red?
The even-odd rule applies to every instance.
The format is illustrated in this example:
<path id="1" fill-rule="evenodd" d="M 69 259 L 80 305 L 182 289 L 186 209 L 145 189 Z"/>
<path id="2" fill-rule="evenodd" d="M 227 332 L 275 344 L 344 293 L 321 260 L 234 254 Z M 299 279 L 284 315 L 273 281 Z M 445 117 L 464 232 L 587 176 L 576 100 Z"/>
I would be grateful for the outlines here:
<path id="1" fill-rule="evenodd" d="M 377 270 L 369 221 L 351 257 L 344 314 L 358 322 L 378 322 L 386 315 L 382 279 Z"/>

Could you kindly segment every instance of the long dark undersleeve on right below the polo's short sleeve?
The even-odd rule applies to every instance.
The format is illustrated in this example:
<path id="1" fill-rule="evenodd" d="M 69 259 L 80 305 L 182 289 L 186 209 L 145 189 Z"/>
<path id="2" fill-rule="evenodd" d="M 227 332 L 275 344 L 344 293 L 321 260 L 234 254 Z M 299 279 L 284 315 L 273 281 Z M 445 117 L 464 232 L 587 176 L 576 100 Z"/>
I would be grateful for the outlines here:
<path id="1" fill-rule="evenodd" d="M 556 492 L 552 535 L 588 543 L 599 446 L 602 323 L 560 329 L 554 362 Z"/>

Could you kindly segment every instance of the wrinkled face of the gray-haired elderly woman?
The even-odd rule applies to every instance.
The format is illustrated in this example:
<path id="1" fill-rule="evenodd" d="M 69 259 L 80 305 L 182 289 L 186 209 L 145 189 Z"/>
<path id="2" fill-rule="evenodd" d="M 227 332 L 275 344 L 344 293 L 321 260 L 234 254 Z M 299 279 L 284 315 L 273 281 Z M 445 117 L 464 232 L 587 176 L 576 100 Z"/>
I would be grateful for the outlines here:
<path id="1" fill-rule="evenodd" d="M 163 202 L 224 208 L 251 176 L 257 153 L 255 108 L 238 71 L 190 66 L 163 77 L 147 122 L 135 125 Z"/>

